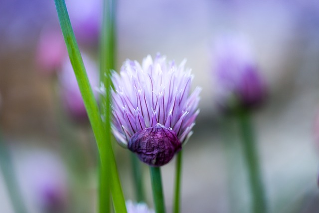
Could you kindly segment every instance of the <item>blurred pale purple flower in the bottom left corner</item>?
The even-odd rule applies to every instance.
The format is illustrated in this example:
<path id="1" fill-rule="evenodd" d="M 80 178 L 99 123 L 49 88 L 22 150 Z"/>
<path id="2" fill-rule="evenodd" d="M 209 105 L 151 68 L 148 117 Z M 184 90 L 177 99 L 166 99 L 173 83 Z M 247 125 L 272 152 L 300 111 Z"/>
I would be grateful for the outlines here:
<path id="1" fill-rule="evenodd" d="M 63 212 L 68 202 L 66 169 L 48 151 L 29 151 L 19 156 L 18 175 L 27 200 L 43 212 Z"/>

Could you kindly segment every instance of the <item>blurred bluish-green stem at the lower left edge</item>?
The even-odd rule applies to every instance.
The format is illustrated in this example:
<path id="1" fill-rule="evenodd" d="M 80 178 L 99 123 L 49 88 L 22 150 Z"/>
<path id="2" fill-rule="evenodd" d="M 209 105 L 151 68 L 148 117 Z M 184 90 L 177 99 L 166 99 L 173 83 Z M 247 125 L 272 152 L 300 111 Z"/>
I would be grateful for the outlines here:
<path id="1" fill-rule="evenodd" d="M 27 213 L 13 167 L 10 152 L 0 132 L 0 168 L 15 213 Z"/>

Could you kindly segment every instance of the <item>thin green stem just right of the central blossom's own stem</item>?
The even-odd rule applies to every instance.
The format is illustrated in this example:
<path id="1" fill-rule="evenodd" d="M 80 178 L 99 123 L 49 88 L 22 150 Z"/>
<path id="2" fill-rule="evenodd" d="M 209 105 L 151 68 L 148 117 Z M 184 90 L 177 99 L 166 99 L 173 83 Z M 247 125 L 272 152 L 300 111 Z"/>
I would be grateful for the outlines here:
<path id="1" fill-rule="evenodd" d="M 181 163 L 182 163 L 182 150 L 179 151 L 176 156 L 175 200 L 174 200 L 174 206 L 173 206 L 173 213 L 179 213 L 180 211 Z"/>

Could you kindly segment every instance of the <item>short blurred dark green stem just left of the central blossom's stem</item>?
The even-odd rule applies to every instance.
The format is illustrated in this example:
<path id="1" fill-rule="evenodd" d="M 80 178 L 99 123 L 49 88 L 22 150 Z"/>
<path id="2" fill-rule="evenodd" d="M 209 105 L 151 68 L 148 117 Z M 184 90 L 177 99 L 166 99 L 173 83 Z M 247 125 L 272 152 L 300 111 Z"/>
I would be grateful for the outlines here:
<path id="1" fill-rule="evenodd" d="M 137 202 L 146 202 L 144 196 L 143 168 L 141 161 L 133 152 L 131 152 L 131 161 Z"/>

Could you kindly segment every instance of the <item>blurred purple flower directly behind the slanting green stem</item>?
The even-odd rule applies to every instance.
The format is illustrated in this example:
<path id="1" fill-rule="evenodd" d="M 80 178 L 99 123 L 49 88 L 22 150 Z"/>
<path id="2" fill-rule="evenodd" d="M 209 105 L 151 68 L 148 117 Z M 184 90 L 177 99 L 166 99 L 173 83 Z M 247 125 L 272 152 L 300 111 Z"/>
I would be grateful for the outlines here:
<path id="1" fill-rule="evenodd" d="M 99 72 L 97 64 L 86 54 L 82 53 L 82 58 L 90 84 L 92 88 L 97 88 L 99 86 Z M 65 58 L 61 71 L 58 72 L 58 80 L 61 86 L 60 91 L 63 104 L 70 115 L 79 120 L 87 118 L 82 95 L 68 57 Z M 93 90 L 93 93 L 95 98 L 98 99 L 98 91 Z"/>

